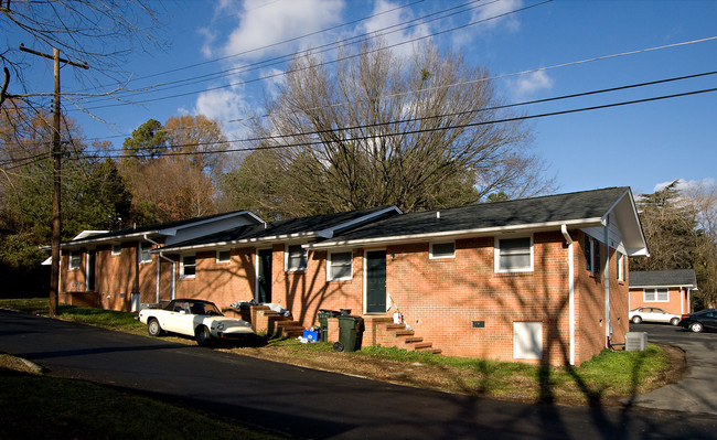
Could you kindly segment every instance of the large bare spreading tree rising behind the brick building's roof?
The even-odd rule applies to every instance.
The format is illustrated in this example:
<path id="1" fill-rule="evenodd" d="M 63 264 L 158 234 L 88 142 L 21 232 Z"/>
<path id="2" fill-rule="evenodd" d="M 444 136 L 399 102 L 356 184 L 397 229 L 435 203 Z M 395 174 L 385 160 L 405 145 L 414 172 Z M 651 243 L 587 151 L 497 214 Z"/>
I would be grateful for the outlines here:
<path id="1" fill-rule="evenodd" d="M 431 45 L 409 57 L 364 46 L 339 60 L 331 71 L 319 57 L 296 58 L 255 127 L 292 182 L 278 202 L 301 201 L 293 215 L 456 206 L 552 187 L 529 152 L 529 127 L 494 122 L 510 115 L 485 69 Z"/>

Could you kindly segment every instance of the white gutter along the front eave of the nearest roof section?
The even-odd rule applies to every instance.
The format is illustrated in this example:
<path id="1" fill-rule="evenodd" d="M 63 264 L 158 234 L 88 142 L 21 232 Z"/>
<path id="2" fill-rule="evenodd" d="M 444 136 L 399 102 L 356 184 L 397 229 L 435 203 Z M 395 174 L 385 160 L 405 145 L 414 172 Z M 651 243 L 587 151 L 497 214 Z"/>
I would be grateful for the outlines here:
<path id="1" fill-rule="evenodd" d="M 507 233 L 520 233 L 528 229 L 555 229 L 560 228 L 563 225 L 571 227 L 595 227 L 601 226 L 601 217 L 595 218 L 581 218 L 568 222 L 545 222 L 545 223 L 531 223 L 526 225 L 514 225 L 514 226 L 494 226 L 494 227 L 483 227 L 474 229 L 462 229 L 462 230 L 447 230 L 440 233 L 426 233 L 426 234 L 405 234 L 405 235 L 395 235 L 390 237 L 376 237 L 376 238 L 360 238 L 354 240 L 333 240 L 333 242 L 321 242 L 321 243 L 311 243 L 304 245 L 304 247 L 310 249 L 322 249 L 330 247 L 345 247 L 345 246 L 366 246 L 366 245 L 387 245 L 390 243 L 406 243 L 406 242 L 420 242 L 422 239 L 429 238 L 443 238 L 443 237 L 464 237 L 464 236 L 477 236 L 477 235 L 495 235 L 495 234 L 507 234 Z"/>

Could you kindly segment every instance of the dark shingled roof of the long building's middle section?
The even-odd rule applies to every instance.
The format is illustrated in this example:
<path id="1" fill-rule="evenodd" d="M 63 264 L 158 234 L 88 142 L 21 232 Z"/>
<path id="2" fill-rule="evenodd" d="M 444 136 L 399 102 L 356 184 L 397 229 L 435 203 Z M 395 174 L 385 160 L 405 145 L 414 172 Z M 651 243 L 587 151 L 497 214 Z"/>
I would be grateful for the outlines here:
<path id="1" fill-rule="evenodd" d="M 315 215 L 312 217 L 291 218 L 287 221 L 279 221 L 267 223 L 264 225 L 239 226 L 234 229 L 220 232 L 216 234 L 199 237 L 195 239 L 176 243 L 172 246 L 167 246 L 162 249 L 194 247 L 202 245 L 212 245 L 218 243 L 232 243 L 239 240 L 260 240 L 264 238 L 271 238 L 277 236 L 297 235 L 308 236 L 313 235 L 320 230 L 332 229 L 340 227 L 344 224 L 355 222 L 362 217 L 376 214 L 381 211 L 390 208 L 390 206 L 379 206 L 368 210 L 358 210 L 344 213 L 334 213 L 325 215 Z M 396 212 L 398 214 L 398 212 Z"/>

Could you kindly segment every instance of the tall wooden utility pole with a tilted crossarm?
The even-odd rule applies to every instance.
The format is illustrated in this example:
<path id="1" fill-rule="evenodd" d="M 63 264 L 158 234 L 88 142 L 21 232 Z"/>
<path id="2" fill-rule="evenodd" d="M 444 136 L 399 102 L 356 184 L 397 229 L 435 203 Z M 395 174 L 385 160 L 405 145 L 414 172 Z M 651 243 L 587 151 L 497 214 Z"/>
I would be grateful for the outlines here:
<path id="1" fill-rule="evenodd" d="M 72 62 L 60 57 L 60 51 L 53 47 L 52 55 L 36 52 L 20 45 L 20 50 L 31 53 L 33 55 L 42 56 L 44 58 L 53 60 L 55 73 L 55 98 L 53 109 L 53 127 L 52 127 L 52 155 L 54 165 L 52 171 L 53 176 L 53 191 L 52 191 L 52 266 L 50 272 L 50 315 L 57 315 L 57 300 L 60 293 L 60 244 L 62 240 L 62 215 L 60 210 L 60 196 L 62 193 L 62 141 L 60 138 L 60 62 L 69 64 L 75 67 L 89 68 L 85 64 Z"/>

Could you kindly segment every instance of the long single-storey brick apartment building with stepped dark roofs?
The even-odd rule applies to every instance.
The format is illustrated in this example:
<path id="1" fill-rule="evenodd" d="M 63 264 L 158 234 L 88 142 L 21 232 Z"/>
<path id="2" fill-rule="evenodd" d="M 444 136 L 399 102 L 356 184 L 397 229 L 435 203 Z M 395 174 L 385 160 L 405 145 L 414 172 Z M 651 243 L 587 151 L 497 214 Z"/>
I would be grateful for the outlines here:
<path id="1" fill-rule="evenodd" d="M 648 255 L 630 189 L 403 214 L 264 223 L 243 211 L 63 244 L 61 301 L 352 309 L 364 345 L 396 313 L 446 355 L 579 365 L 629 330 L 629 257 Z"/>

